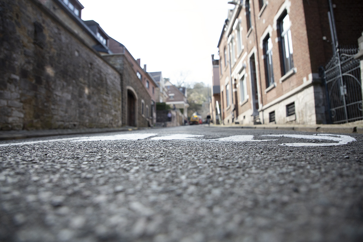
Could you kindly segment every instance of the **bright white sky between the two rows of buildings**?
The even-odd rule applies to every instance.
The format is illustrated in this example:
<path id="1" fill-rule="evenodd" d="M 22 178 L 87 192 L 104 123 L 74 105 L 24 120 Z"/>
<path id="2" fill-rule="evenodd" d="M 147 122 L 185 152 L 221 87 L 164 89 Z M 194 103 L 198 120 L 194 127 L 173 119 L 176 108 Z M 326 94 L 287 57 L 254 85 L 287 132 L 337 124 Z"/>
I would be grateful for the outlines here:
<path id="1" fill-rule="evenodd" d="M 83 20 L 98 22 L 148 72 L 162 71 L 176 84 L 182 74 L 189 83 L 212 83 L 212 59 L 228 0 L 80 0 Z"/>

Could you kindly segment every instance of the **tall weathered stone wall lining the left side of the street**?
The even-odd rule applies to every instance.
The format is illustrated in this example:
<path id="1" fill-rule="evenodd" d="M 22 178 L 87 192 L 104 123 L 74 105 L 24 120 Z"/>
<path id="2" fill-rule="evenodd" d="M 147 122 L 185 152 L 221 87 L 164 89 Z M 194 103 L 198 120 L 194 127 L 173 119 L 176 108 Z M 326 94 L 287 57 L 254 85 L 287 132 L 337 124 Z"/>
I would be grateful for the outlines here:
<path id="1" fill-rule="evenodd" d="M 0 130 L 120 127 L 121 76 L 34 0 L 0 2 Z"/>

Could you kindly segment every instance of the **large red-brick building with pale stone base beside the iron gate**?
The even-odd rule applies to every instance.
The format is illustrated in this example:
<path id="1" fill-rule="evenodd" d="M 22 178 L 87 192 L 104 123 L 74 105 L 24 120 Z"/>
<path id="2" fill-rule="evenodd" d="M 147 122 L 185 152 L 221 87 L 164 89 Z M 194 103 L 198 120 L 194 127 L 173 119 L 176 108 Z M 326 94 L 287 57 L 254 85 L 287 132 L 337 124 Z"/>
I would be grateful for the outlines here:
<path id="1" fill-rule="evenodd" d="M 326 123 L 326 90 L 318 70 L 333 56 L 331 43 L 337 44 L 328 12 L 336 16 L 339 43 L 355 44 L 363 2 L 232 3 L 218 43 L 224 123 Z"/>

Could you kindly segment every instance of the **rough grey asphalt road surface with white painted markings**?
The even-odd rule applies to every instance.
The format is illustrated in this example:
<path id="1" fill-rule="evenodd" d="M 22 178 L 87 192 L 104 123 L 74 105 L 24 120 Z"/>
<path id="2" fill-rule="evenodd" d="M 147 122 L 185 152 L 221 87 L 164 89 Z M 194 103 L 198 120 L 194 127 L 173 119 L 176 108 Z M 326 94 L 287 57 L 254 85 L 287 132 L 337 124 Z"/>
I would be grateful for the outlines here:
<path id="1" fill-rule="evenodd" d="M 205 125 L 0 142 L 0 241 L 363 241 L 363 135 Z"/>

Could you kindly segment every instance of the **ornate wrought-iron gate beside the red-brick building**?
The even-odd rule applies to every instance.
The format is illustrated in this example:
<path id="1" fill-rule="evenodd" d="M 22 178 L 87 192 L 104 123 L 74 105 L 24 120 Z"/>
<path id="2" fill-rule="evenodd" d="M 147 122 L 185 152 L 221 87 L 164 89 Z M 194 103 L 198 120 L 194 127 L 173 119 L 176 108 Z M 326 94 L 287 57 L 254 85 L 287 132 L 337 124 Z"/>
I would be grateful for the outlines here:
<path id="1" fill-rule="evenodd" d="M 363 119 L 358 48 L 340 48 L 325 67 L 325 85 L 330 123 Z"/>

